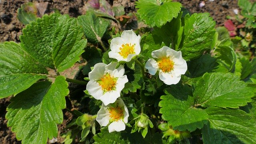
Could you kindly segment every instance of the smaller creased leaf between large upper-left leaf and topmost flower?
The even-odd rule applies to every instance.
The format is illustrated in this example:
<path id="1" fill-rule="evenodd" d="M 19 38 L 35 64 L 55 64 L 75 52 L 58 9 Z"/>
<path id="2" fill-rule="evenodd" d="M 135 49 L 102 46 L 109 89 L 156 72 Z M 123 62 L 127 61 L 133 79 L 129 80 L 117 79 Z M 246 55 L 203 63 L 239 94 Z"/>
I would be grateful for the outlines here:
<path id="1" fill-rule="evenodd" d="M 100 42 L 109 26 L 107 20 L 97 17 L 92 12 L 87 12 L 85 15 L 78 16 L 77 21 L 78 24 L 83 27 L 88 42 L 91 43 Z"/>

